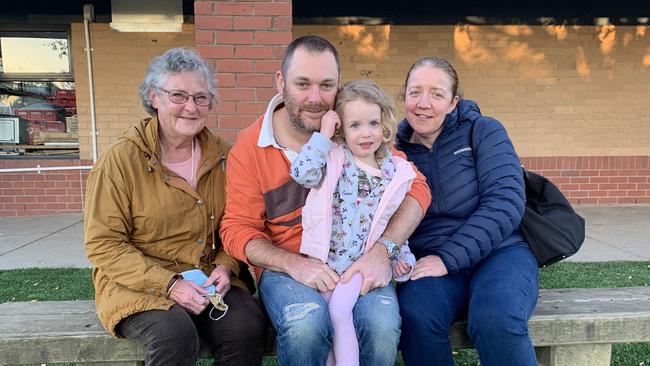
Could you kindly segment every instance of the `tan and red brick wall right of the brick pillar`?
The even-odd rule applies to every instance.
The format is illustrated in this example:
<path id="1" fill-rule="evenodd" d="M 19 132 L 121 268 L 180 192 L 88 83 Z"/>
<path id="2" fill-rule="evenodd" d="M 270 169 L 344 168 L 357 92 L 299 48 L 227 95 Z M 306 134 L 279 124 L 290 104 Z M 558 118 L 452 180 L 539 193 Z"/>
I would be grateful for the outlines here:
<path id="1" fill-rule="evenodd" d="M 371 78 L 395 96 L 413 62 L 444 57 L 522 163 L 572 203 L 650 203 L 647 26 L 293 27 L 304 34 L 336 45 L 344 82 Z"/>

